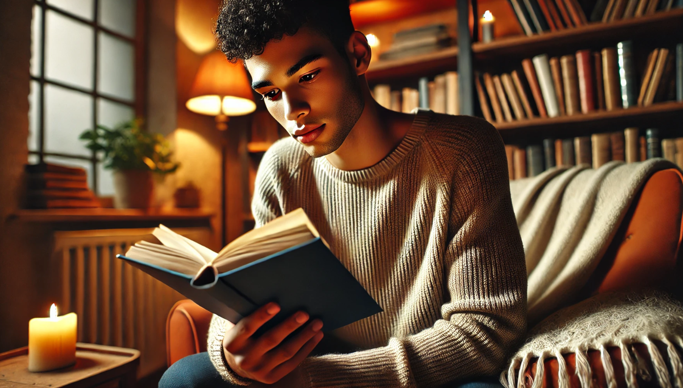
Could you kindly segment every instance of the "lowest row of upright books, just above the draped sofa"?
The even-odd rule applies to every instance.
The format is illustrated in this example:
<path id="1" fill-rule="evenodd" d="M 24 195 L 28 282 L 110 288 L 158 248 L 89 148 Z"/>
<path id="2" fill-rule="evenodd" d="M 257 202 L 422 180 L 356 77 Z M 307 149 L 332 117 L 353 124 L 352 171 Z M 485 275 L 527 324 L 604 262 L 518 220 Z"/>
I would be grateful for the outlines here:
<path id="1" fill-rule="evenodd" d="M 638 128 L 613 133 L 595 133 L 573 139 L 544 139 L 527 147 L 505 146 L 510 180 L 537 176 L 555 166 L 580 164 L 600 168 L 610 161 L 634 163 L 650 158 L 666 158 L 683 168 L 683 137 L 660 140 L 656 128 L 639 136 Z"/>

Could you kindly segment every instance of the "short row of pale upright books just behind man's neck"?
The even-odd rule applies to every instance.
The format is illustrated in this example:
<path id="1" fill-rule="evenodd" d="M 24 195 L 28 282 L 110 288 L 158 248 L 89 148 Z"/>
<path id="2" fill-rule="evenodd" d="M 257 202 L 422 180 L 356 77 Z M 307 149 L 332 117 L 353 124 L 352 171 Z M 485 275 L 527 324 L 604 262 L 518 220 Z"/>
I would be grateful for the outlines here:
<path id="1" fill-rule="evenodd" d="M 378 84 L 372 89 L 372 96 L 382 107 L 393 111 L 410 113 L 419 107 L 436 113 L 460 114 L 458 72 L 439 74 L 432 81 L 422 77 L 417 89 L 391 90 L 390 85 Z"/>

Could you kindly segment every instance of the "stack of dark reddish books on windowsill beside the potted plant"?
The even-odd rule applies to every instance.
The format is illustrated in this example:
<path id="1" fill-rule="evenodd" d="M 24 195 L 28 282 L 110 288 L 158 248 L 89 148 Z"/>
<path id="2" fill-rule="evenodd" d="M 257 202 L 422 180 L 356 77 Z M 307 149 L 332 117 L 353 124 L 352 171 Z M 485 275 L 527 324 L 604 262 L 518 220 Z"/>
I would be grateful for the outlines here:
<path id="1" fill-rule="evenodd" d="M 88 188 L 85 169 L 41 163 L 27 165 L 25 207 L 29 209 L 99 208 Z"/>

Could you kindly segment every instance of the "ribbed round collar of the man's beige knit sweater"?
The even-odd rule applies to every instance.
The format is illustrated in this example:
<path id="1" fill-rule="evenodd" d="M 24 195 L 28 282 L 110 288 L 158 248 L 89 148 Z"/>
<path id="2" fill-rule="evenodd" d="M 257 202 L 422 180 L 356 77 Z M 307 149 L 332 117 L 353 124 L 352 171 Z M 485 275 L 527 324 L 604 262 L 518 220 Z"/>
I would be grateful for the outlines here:
<path id="1" fill-rule="evenodd" d="M 398 146 L 394 148 L 393 151 L 389 152 L 389 154 L 380 162 L 371 167 L 346 171 L 333 166 L 324 156 L 322 158 L 314 159 L 314 163 L 318 164 L 331 178 L 349 183 L 363 182 L 365 180 L 372 180 L 383 176 L 401 163 L 408 152 L 413 150 L 413 148 L 420 143 L 425 128 L 430 120 L 430 112 L 431 111 L 418 110 L 413 119 L 413 124 L 410 125 L 410 129 L 408 129 L 408 132 Z"/>

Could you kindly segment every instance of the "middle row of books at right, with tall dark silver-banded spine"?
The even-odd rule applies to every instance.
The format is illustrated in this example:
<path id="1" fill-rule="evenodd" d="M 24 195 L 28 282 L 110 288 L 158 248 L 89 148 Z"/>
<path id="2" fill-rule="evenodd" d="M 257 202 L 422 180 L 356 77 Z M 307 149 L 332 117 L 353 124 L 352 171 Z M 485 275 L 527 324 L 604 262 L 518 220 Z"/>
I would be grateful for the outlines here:
<path id="1" fill-rule="evenodd" d="M 597 110 L 683 101 L 683 43 L 673 50 L 655 48 L 637 82 L 632 42 L 599 53 L 522 60 L 522 71 L 476 74 L 475 87 L 484 118 L 511 122 L 535 117 L 575 115 Z M 529 98 L 529 97 L 533 98 Z"/>

